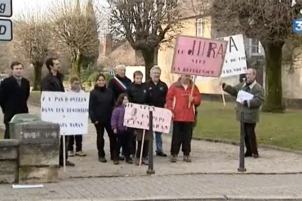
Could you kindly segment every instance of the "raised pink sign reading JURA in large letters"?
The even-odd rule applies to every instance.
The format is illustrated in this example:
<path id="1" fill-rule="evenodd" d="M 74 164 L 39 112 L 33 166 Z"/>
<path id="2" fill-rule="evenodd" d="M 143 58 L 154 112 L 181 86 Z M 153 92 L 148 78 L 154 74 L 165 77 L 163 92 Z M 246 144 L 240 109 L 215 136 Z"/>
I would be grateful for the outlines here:
<path id="1" fill-rule="evenodd" d="M 226 41 L 178 36 L 172 62 L 172 73 L 219 77 Z"/>

